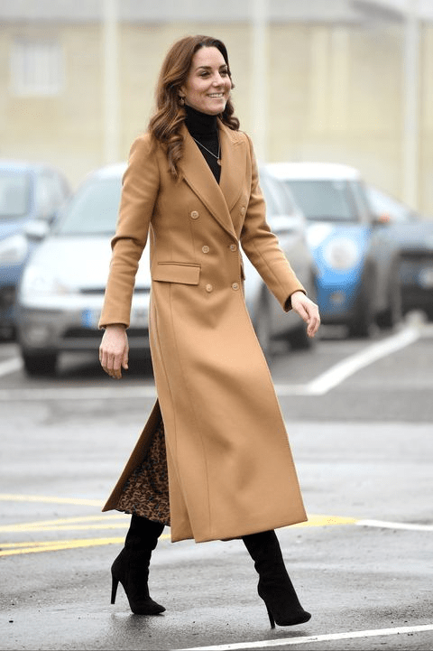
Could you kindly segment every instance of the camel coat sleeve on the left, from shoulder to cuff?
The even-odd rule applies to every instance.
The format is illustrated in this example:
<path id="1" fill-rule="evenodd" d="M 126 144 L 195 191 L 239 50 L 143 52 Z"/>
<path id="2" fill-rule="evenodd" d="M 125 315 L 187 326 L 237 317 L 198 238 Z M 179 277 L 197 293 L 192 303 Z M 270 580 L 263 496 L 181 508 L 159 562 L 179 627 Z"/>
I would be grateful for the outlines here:
<path id="1" fill-rule="evenodd" d="M 99 328 L 110 323 L 129 326 L 135 274 L 146 246 L 160 176 L 151 136 L 134 141 L 124 172 L 122 196 Z"/>

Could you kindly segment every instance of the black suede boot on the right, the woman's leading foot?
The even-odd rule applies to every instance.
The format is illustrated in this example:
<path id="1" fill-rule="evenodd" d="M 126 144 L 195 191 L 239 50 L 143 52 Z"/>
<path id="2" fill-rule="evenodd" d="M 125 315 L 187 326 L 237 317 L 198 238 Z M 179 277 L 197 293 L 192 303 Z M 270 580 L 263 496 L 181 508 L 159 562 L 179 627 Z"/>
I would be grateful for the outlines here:
<path id="1" fill-rule="evenodd" d="M 268 610 L 271 628 L 275 628 L 275 622 L 293 626 L 309 621 L 311 615 L 299 603 L 275 532 L 244 535 L 243 541 L 259 574 L 257 591 Z"/>

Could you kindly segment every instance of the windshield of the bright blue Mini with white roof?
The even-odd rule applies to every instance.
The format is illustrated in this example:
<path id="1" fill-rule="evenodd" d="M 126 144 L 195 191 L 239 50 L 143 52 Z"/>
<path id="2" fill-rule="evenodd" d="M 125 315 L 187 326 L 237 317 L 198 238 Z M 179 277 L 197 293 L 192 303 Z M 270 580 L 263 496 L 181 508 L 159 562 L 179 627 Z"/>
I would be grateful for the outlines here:
<path id="1" fill-rule="evenodd" d="M 358 221 L 355 196 L 349 181 L 287 180 L 307 219 Z"/>

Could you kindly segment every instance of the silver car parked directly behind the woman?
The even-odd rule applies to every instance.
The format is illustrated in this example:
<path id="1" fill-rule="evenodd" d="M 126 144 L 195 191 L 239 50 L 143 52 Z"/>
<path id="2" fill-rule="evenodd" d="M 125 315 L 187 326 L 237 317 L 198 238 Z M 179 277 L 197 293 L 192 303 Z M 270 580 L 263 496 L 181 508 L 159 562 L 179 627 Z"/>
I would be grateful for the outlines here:
<path id="1" fill-rule="evenodd" d="M 97 350 L 97 322 L 102 307 L 115 232 L 124 163 L 93 172 L 60 211 L 56 226 L 33 253 L 18 293 L 18 339 L 24 367 L 30 375 L 54 373 L 60 353 Z M 269 178 L 268 178 L 269 177 Z M 281 245 L 314 295 L 312 258 L 305 243 L 303 217 L 278 181 L 263 172 L 270 218 Z M 138 268 L 128 330 L 131 349 L 149 346 L 148 307 L 151 288 L 148 246 Z M 273 297 L 252 265 L 245 260 L 245 296 L 253 322 L 267 348 L 273 335 L 291 330 L 299 345 L 307 345 L 295 314 L 275 318 Z M 266 290 L 267 292 L 267 290 Z"/>

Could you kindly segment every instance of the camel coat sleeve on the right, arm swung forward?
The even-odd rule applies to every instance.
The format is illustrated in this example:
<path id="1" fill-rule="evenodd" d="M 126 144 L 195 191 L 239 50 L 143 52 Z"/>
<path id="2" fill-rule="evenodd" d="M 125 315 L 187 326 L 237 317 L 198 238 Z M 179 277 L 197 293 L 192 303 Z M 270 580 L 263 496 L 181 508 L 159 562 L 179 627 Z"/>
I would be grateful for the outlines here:
<path id="1" fill-rule="evenodd" d="M 285 312 L 291 308 L 292 293 L 305 292 L 302 284 L 290 266 L 279 246 L 277 237 L 272 233 L 266 221 L 266 206 L 259 185 L 257 163 L 253 153 L 253 144 L 248 136 L 252 163 L 252 181 L 248 208 L 241 232 L 241 244 L 246 256 L 262 276 Z"/>

